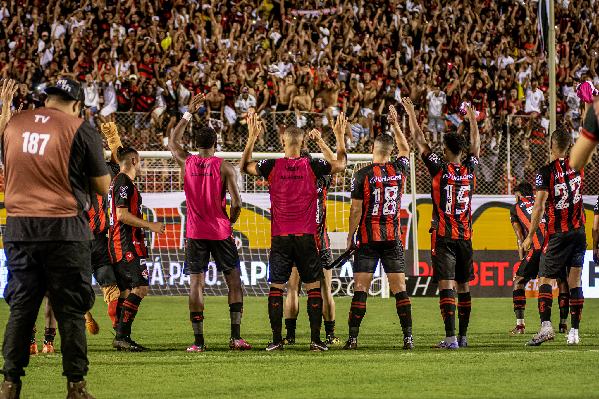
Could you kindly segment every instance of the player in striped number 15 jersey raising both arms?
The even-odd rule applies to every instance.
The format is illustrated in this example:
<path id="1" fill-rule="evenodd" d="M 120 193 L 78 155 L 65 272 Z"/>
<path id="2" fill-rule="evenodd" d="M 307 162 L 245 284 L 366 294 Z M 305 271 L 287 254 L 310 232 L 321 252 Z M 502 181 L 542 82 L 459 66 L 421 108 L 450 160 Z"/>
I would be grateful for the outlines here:
<path id="1" fill-rule="evenodd" d="M 470 321 L 472 301 L 470 284 L 474 280 L 472 264 L 472 218 L 470 205 L 476 188 L 479 170 L 480 135 L 476 124 L 476 109 L 467 107 L 466 119 L 470 122 L 470 146 L 463 135 L 455 132 L 443 136 L 444 161 L 432 153 L 418 126 L 412 100 L 402 100 L 410 119 L 418 151 L 431 173 L 432 223 L 431 261 L 433 281 L 439 284 L 439 305 L 445 324 L 446 339 L 433 349 L 457 349 L 466 346 L 466 332 Z M 461 162 L 464 150 L 465 162 Z M 533 230 L 533 232 L 536 230 Z M 458 291 L 459 331 L 455 334 L 456 303 L 453 285 Z"/>

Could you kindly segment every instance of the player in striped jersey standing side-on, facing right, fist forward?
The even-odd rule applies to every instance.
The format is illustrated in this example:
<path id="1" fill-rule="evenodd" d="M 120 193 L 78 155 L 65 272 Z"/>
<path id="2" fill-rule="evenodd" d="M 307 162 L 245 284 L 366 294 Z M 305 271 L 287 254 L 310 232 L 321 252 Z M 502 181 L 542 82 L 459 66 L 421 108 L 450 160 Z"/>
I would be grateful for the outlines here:
<path id="1" fill-rule="evenodd" d="M 164 223 L 150 223 L 143 218 L 141 195 L 133 182 L 141 172 L 140 155 L 131 147 L 119 147 L 117 160 L 120 172 L 113 179 L 108 192 L 108 249 L 123 306 L 113 347 L 119 351 L 139 352 L 149 349 L 131 339 L 131 324 L 150 285 L 144 228 L 162 234 L 165 226 Z"/>

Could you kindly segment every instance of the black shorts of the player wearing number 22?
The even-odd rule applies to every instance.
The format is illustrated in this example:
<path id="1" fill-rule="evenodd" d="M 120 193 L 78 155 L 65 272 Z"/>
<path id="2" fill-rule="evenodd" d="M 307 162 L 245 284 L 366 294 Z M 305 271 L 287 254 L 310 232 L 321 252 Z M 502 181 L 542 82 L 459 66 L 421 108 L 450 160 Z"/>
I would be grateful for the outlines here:
<path id="1" fill-rule="evenodd" d="M 567 232 L 545 234 L 543 253 L 539 261 L 539 277 L 567 278 L 570 267 L 582 267 L 585 261 L 586 232 L 584 227 Z"/>

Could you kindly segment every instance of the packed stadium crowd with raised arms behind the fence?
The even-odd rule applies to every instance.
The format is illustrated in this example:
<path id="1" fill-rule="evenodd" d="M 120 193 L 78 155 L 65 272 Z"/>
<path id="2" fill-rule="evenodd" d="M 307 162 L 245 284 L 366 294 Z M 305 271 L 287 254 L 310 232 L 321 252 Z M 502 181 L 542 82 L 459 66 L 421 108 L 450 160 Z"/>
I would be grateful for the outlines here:
<path id="1" fill-rule="evenodd" d="M 184 139 L 190 146 L 208 124 L 229 151 L 243 148 L 253 108 L 262 120 L 259 151 L 280 151 L 292 124 L 321 130 L 333 144 L 328 120 L 343 110 L 349 152 L 369 153 L 374 137 L 390 132 L 388 106 L 403 116 L 403 96 L 438 151 L 444 132 L 468 130 L 458 112 L 467 101 L 479 111 L 485 187 L 507 194 L 508 128 L 514 185 L 533 181 L 547 161 L 549 69 L 537 7 L 530 0 L 10 0 L 0 9 L 0 65 L 4 78 L 21 82 L 13 109 L 41 106 L 44 88 L 61 77 L 79 80 L 84 116 L 96 126 L 115 121 L 123 144 L 138 150 L 166 150 L 194 93 L 207 101 Z M 583 115 L 577 85 L 599 85 L 598 13 L 588 1 L 556 2 L 558 127 L 574 138 Z"/>

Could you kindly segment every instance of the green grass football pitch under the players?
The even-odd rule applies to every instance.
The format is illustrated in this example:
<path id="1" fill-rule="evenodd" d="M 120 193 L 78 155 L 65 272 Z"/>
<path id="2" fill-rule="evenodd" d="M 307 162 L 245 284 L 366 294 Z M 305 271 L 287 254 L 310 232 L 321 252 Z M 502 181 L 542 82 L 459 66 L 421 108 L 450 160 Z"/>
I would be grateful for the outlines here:
<path id="1" fill-rule="evenodd" d="M 510 298 L 473 298 L 468 347 L 434 350 L 444 338 L 438 299 L 412 298 L 416 349 L 403 351 L 394 299 L 368 298 L 358 351 L 308 351 L 306 297 L 300 297 L 295 346 L 264 352 L 272 340 L 267 298 L 247 297 L 241 336 L 252 351 L 228 348 L 226 297 L 206 297 L 204 337 L 207 352 L 184 352 L 193 343 L 187 297 L 146 297 L 133 324 L 132 338 L 152 351 L 117 352 L 102 297 L 92 314 L 100 325 L 87 334 L 90 370 L 87 386 L 106 398 L 589 398 L 599 397 L 599 299 L 586 299 L 579 345 L 565 334 L 539 347 L 524 343 L 540 329 L 536 299 L 527 301 L 527 334 L 509 335 L 515 326 Z M 347 339 L 351 298 L 336 297 L 335 333 Z M 552 323 L 559 312 L 556 301 Z M 8 306 L 0 304 L 0 325 Z M 31 357 L 21 398 L 63 398 L 66 379 L 60 354 L 41 354 L 43 308 L 37 321 L 40 354 Z M 283 334 L 285 332 L 283 331 Z M 324 339 L 324 331 L 322 331 Z M 55 349 L 60 351 L 56 336 Z"/>

